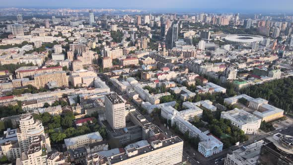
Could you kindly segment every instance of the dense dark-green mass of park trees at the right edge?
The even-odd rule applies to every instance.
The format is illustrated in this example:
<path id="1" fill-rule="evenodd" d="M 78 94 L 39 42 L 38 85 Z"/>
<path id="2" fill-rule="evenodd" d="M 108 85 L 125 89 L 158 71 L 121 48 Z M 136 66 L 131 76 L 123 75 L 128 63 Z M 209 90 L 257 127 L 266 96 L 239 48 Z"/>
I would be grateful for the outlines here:
<path id="1" fill-rule="evenodd" d="M 254 98 L 264 98 L 270 104 L 285 111 L 292 111 L 293 109 L 293 77 L 251 85 L 241 89 L 240 93 Z"/>

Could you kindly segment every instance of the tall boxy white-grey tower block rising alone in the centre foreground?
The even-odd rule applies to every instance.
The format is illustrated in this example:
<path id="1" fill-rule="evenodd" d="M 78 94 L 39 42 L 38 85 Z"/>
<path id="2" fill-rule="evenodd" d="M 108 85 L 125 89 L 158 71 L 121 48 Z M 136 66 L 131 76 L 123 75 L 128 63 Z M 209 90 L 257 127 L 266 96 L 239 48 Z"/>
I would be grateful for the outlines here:
<path id="1" fill-rule="evenodd" d="M 125 128 L 125 101 L 116 93 L 105 95 L 106 119 L 113 130 Z"/>

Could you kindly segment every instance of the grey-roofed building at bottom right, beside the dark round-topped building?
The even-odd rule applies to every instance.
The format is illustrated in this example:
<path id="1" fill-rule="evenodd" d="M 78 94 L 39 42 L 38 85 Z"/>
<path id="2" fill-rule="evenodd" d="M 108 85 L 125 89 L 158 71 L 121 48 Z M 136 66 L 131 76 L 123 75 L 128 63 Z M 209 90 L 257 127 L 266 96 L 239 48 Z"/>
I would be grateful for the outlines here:
<path id="1" fill-rule="evenodd" d="M 261 140 L 228 153 L 224 165 L 258 165 L 263 143 Z"/>

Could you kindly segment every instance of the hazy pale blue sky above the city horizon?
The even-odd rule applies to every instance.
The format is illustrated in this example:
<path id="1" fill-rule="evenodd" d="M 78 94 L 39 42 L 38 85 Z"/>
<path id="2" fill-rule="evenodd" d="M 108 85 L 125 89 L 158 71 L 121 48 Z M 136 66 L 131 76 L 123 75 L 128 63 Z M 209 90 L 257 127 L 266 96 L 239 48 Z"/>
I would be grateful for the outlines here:
<path id="1" fill-rule="evenodd" d="M 1 7 L 197 8 L 207 10 L 293 11 L 293 0 L 0 0 Z"/>

